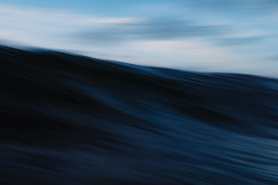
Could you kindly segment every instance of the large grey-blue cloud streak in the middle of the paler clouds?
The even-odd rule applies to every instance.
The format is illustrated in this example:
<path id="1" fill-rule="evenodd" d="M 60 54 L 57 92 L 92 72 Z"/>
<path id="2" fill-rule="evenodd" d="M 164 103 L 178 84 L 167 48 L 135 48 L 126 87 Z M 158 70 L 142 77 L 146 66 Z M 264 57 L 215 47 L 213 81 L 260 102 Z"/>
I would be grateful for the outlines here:
<path id="1" fill-rule="evenodd" d="M 221 35 L 225 26 L 198 25 L 173 18 L 145 18 L 131 23 L 102 24 L 97 28 L 76 34 L 76 39 L 86 42 L 122 42 L 140 39 L 177 39 L 183 37 L 206 37 Z"/>

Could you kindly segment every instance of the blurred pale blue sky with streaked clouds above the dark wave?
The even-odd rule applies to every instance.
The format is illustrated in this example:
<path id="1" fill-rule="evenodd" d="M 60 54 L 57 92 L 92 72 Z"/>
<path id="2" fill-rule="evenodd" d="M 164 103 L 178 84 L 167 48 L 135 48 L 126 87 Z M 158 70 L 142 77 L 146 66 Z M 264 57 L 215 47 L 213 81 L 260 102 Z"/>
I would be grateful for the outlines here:
<path id="1" fill-rule="evenodd" d="M 0 44 L 278 77 L 277 0 L 0 0 Z"/>

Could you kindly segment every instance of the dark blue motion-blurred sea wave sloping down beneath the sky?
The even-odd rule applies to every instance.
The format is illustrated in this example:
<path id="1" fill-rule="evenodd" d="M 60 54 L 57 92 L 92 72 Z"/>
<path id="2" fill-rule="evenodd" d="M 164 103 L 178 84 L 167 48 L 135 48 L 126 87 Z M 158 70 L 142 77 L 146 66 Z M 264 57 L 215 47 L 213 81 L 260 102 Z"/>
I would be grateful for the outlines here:
<path id="1" fill-rule="evenodd" d="M 278 80 L 0 48 L 1 184 L 278 184 Z"/>

